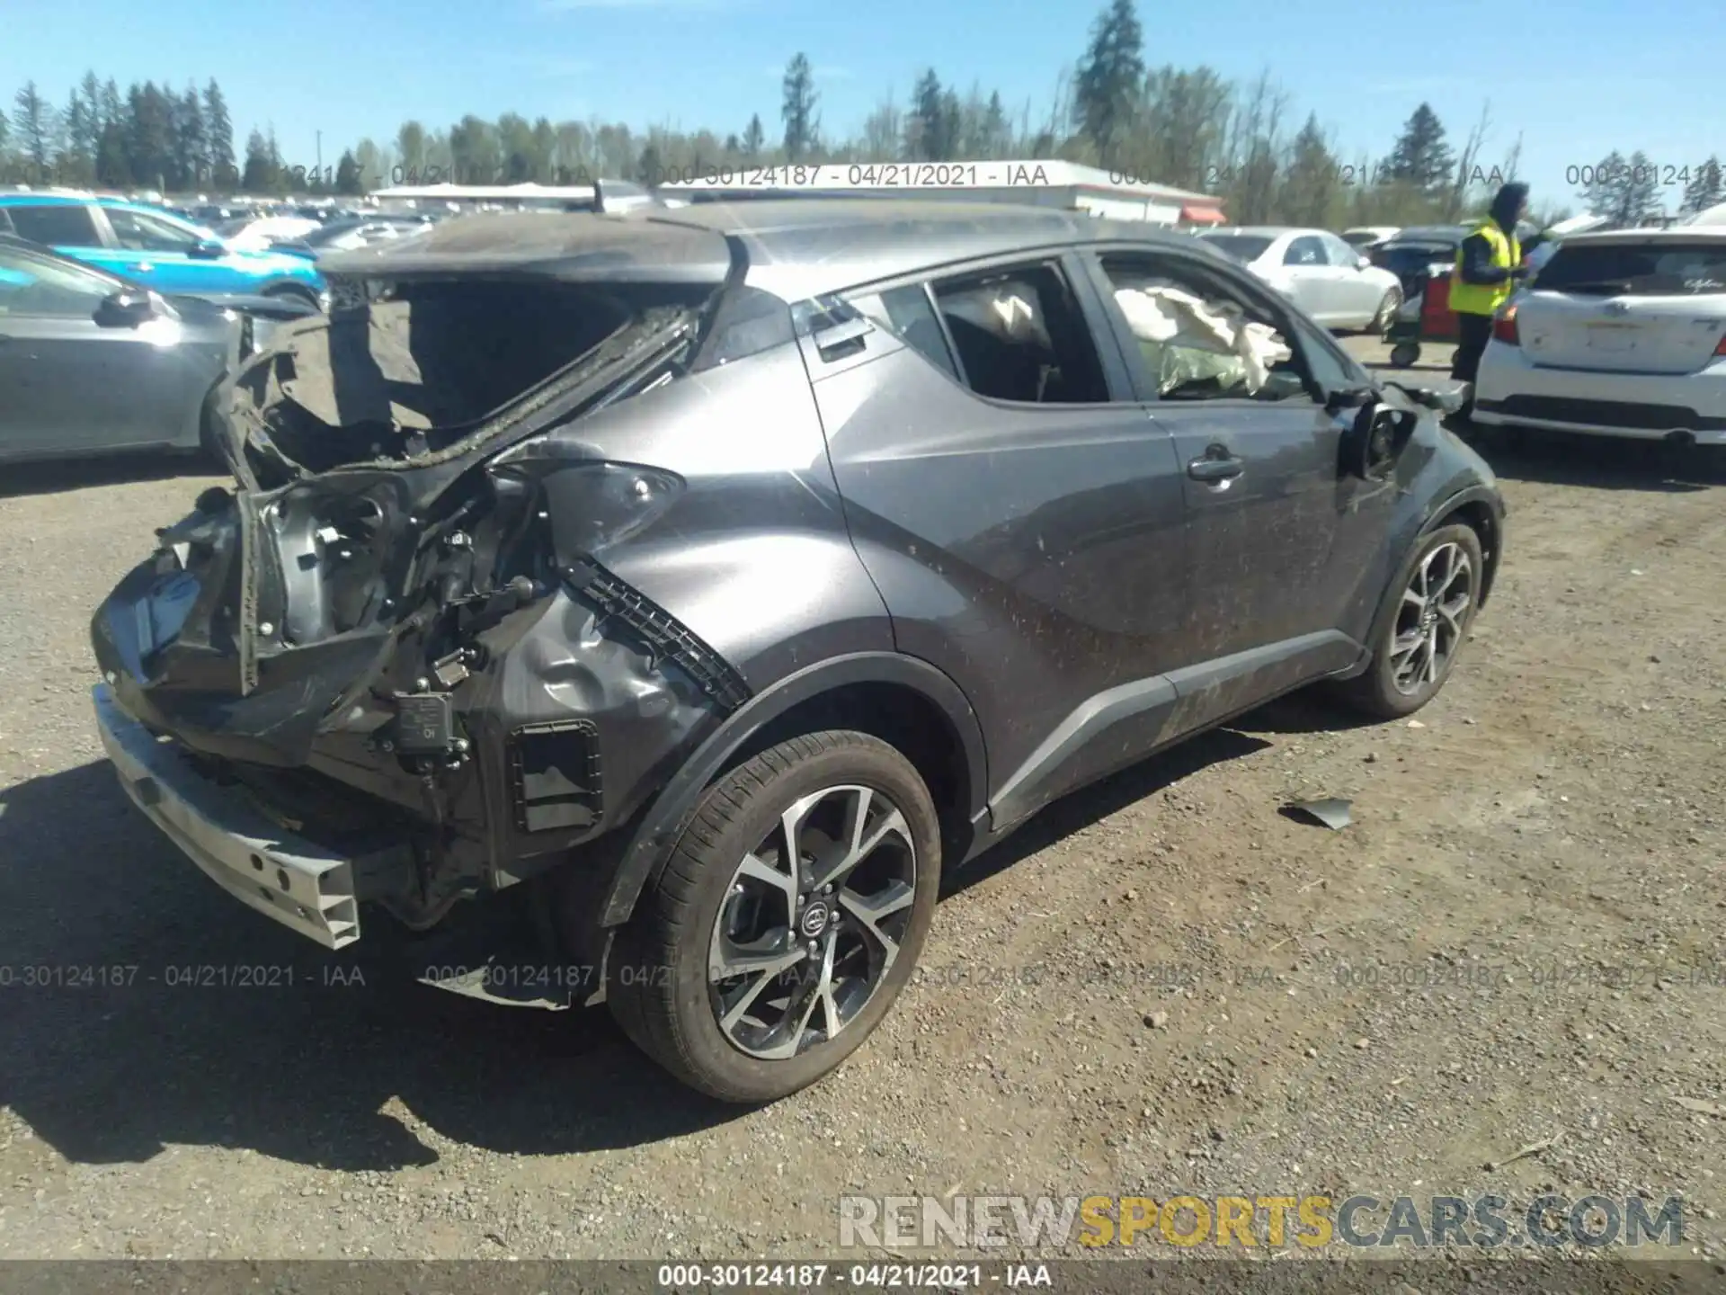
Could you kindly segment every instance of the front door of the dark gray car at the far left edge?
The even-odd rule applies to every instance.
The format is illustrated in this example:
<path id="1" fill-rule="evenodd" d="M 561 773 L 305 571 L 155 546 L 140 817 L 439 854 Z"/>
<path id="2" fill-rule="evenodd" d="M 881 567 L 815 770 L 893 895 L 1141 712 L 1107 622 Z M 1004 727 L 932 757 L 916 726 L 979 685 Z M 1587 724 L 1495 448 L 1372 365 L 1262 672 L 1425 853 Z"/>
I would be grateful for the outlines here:
<path id="1" fill-rule="evenodd" d="M 62 259 L 0 247 L 0 454 L 197 444 L 198 375 L 155 328 L 104 326 L 121 285 Z"/>

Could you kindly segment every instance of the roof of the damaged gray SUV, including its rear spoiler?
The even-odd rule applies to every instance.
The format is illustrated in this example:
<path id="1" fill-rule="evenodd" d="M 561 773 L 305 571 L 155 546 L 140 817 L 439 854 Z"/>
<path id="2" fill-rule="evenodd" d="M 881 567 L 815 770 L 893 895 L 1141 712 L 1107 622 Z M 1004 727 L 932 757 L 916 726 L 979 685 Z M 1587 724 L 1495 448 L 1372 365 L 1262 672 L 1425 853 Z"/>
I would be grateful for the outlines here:
<path id="1" fill-rule="evenodd" d="M 497 212 L 444 221 L 419 238 L 343 252 L 335 275 L 523 273 L 557 280 L 711 281 L 732 273 L 787 300 L 1075 243 L 1193 240 L 1139 221 L 1055 207 L 922 199 L 765 199 L 623 214 Z M 1212 252 L 1206 252 L 1210 256 Z"/>

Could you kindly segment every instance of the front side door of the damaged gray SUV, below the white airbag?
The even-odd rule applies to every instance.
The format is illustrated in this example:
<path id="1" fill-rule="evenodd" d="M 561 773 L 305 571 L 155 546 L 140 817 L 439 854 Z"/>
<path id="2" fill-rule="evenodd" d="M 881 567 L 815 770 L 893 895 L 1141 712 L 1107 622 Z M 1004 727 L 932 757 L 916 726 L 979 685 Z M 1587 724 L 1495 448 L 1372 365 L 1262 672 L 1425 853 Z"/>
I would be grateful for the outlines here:
<path id="1" fill-rule="evenodd" d="M 1377 554 L 1395 487 L 1341 471 L 1355 411 L 1326 392 L 1365 382 L 1322 330 L 1282 311 L 1248 276 L 1179 249 L 1105 249 L 1089 257 L 1108 295 L 1151 420 L 1169 430 L 1186 502 L 1186 648 L 1179 727 L 1339 670 L 1360 644 L 1339 627 Z M 1129 295 L 1122 295 L 1129 294 Z M 1160 313 L 1129 318 L 1131 294 Z M 1196 302 L 1196 306 L 1187 306 Z M 1229 337 L 1258 321 L 1282 344 L 1255 387 Z"/>

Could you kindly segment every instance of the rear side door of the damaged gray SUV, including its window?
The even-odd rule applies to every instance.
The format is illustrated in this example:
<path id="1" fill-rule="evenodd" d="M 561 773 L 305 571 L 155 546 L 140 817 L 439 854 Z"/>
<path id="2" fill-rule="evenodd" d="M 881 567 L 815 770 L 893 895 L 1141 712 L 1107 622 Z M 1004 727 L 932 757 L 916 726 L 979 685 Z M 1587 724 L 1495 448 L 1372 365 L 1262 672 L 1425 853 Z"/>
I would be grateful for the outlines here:
<path id="1" fill-rule="evenodd" d="M 965 680 L 996 827 L 1150 749 L 1184 661 L 1174 444 L 1074 269 L 875 283 L 801 325 L 858 553 L 899 651 Z"/>

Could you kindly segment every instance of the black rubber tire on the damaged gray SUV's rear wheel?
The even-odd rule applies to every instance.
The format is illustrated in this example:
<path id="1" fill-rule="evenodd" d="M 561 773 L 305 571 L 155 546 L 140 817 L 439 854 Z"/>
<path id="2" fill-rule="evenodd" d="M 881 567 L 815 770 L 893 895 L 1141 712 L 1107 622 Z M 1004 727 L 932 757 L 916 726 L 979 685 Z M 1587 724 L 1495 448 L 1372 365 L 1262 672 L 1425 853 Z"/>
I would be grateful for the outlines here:
<path id="1" fill-rule="evenodd" d="M 910 891 L 910 900 L 908 917 L 896 927 L 898 955 L 868 982 L 873 986 L 868 996 L 830 1038 L 823 1029 L 796 1055 L 763 1058 L 746 1052 L 720 1024 L 716 1003 L 725 982 L 720 989 L 709 982 L 709 941 L 718 941 L 721 915 L 730 912 L 727 905 L 742 894 L 739 867 L 744 856 L 765 850 L 780 817 L 801 798 L 844 786 L 866 787 L 904 815 L 906 832 L 896 836 L 910 843 L 915 872 L 901 889 L 901 894 Z M 813 813 L 809 817 L 815 818 Z M 690 1088 L 723 1102 L 782 1098 L 834 1071 L 887 1015 L 922 953 L 939 889 L 939 818 L 911 761 L 879 737 L 861 732 L 792 737 L 737 767 L 702 794 L 694 820 L 659 877 L 642 893 L 633 917 L 618 932 L 608 962 L 606 1001 L 637 1046 Z M 830 900 L 835 922 L 844 920 L 846 893 L 849 888 L 841 884 Z M 816 901 L 820 896 L 809 894 L 811 908 Z M 806 915 L 801 908 L 797 912 Z M 796 927 L 797 913 L 792 913 L 784 931 L 785 948 L 801 943 L 803 934 Z M 834 939 L 839 938 L 835 927 Z M 861 943 L 861 936 L 853 938 Z M 832 958 L 832 953 L 825 957 Z M 803 977 L 815 962 L 799 967 L 804 969 L 797 972 Z M 766 981 L 773 986 L 784 982 L 784 972 L 777 981 Z M 758 993 L 763 1010 L 770 1010 L 770 991 Z M 809 986 L 799 979 L 787 988 L 787 1000 L 796 1003 L 797 995 L 808 993 Z M 827 1001 L 815 1007 L 825 1014 Z M 809 1008 L 811 1020 L 815 1007 Z M 785 1019 L 791 1015 L 787 1010 Z M 796 1029 L 792 1046 L 803 1036 L 804 1031 Z"/>

